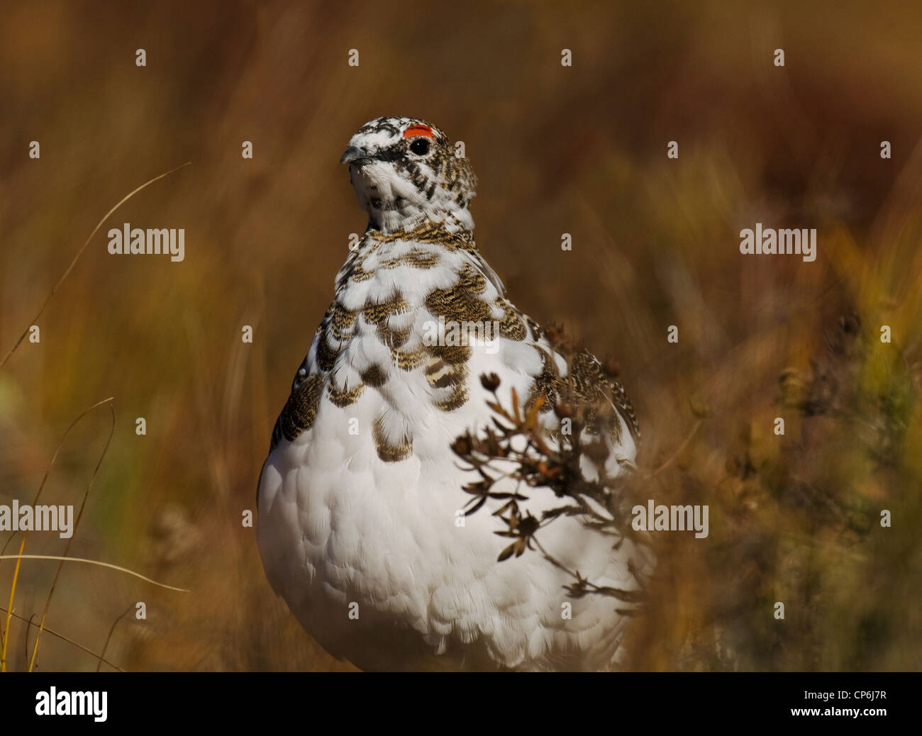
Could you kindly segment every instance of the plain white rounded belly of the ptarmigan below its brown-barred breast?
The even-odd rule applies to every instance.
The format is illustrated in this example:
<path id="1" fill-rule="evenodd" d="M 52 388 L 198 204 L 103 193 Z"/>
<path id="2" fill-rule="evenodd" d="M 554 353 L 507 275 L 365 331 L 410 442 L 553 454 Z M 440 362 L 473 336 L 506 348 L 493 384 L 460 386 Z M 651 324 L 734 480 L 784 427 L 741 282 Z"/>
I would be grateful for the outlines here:
<path id="1" fill-rule="evenodd" d="M 511 381 L 526 389 L 526 376 L 504 378 L 507 390 Z M 470 391 L 460 410 L 406 418 L 413 452 L 399 462 L 380 459 L 371 438 L 393 403 L 375 390 L 346 409 L 324 398 L 311 429 L 266 459 L 257 528 L 266 576 L 325 648 L 362 669 L 607 667 L 626 621 L 619 601 L 570 598 L 573 577 L 537 550 L 498 563 L 511 541 L 494 533 L 502 502 L 462 516 L 471 500 L 462 486 L 477 477 L 449 445 L 489 417 L 476 378 Z M 526 494 L 523 511 L 536 515 L 562 503 L 546 489 Z M 614 552 L 610 537 L 566 517 L 538 540 L 597 585 L 637 587 L 628 540 Z"/>

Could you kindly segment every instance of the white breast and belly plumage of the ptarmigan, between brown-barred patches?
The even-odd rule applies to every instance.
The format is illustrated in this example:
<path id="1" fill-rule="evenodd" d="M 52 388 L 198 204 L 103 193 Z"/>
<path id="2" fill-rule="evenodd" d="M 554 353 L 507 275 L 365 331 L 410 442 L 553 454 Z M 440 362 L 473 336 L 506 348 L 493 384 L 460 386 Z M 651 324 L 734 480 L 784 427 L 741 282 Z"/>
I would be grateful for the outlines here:
<path id="1" fill-rule="evenodd" d="M 438 252 L 438 266 L 387 267 L 427 248 Z M 324 647 L 363 669 L 609 666 L 626 623 L 615 611 L 621 604 L 568 597 L 564 586 L 572 576 L 537 551 L 497 563 L 508 542 L 494 533 L 503 525 L 491 512 L 502 502 L 463 516 L 471 497 L 462 486 L 477 477 L 458 467 L 450 445 L 467 429 L 491 421 L 491 395 L 480 386 L 480 374 L 500 376 L 501 397 L 508 398 L 512 387 L 528 396 L 541 369 L 535 341 L 500 338 L 489 352 L 472 349 L 467 401 L 455 410 L 438 409 L 445 387 L 432 386 L 425 365 L 394 365 L 393 346 L 382 342 L 380 326 L 361 310 L 401 294 L 408 308 L 388 317 L 385 326 L 409 329 L 402 349 L 416 350 L 423 325 L 435 318 L 425 306 L 427 295 L 450 288 L 469 255 L 427 243 L 398 243 L 386 257 L 381 248 L 371 255 L 362 262 L 362 280 L 349 281 L 337 295 L 343 308 L 359 314 L 337 346 L 324 386 L 349 390 L 373 365 L 384 368 L 385 380 L 365 386 L 347 406 L 337 406 L 325 390 L 310 428 L 293 441 L 281 438 L 266 459 L 257 528 L 266 576 Z M 368 273 L 373 275 L 366 278 Z M 499 296 L 488 280 L 484 301 Z M 314 338 L 305 363 L 308 375 L 319 370 L 320 339 L 323 334 Z M 552 412 L 543 416 L 557 421 Z M 611 448 L 612 458 L 632 460 L 631 433 L 622 425 L 622 445 Z M 382 436 L 392 445 L 409 438 L 408 457 L 382 459 Z M 622 472 L 614 459 L 607 467 Z M 503 482 L 513 490 L 513 481 Z M 531 500 L 523 508 L 536 515 L 560 505 L 547 489 L 527 495 Z M 578 518 L 555 521 L 538 540 L 561 564 L 598 585 L 638 588 L 628 561 L 643 567 L 644 555 L 629 540 L 614 551 L 610 537 Z"/>

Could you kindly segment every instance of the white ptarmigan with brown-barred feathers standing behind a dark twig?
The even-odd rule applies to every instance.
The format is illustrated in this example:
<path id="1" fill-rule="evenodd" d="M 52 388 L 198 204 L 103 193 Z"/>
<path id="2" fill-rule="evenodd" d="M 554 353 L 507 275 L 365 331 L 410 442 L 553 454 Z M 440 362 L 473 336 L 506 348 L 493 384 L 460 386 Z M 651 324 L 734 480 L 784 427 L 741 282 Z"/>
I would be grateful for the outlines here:
<path id="1" fill-rule="evenodd" d="M 269 582 L 322 646 L 365 670 L 608 669 L 626 607 L 570 596 L 573 577 L 539 552 L 497 562 L 507 542 L 495 516 L 457 523 L 472 471 L 451 445 L 491 423 L 482 374 L 499 376 L 499 396 L 544 396 L 549 437 L 561 426 L 549 410 L 558 382 L 608 381 L 617 410 L 602 462 L 618 477 L 639 436 L 630 400 L 588 353 L 568 366 L 506 300 L 474 243 L 474 173 L 441 130 L 378 118 L 342 162 L 368 229 L 337 275 L 260 477 Z M 445 325 L 460 323 L 490 323 L 499 335 L 452 344 Z M 493 490 L 502 482 L 514 490 L 512 479 Z M 523 508 L 536 515 L 560 505 L 549 489 L 527 495 Z M 613 546 L 578 516 L 555 519 L 539 540 L 597 585 L 641 587 L 644 552 L 632 540 Z"/>

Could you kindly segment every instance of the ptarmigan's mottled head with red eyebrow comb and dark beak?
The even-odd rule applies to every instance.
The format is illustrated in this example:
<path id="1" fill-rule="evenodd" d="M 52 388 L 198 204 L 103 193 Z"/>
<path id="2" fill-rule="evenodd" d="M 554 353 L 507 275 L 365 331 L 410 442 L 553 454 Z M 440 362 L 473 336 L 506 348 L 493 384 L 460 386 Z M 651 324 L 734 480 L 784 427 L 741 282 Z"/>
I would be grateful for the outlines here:
<path id="1" fill-rule="evenodd" d="M 426 220 L 449 230 L 474 227 L 468 207 L 477 178 L 435 125 L 379 117 L 359 128 L 340 163 L 349 164 L 370 228 L 409 231 Z"/>

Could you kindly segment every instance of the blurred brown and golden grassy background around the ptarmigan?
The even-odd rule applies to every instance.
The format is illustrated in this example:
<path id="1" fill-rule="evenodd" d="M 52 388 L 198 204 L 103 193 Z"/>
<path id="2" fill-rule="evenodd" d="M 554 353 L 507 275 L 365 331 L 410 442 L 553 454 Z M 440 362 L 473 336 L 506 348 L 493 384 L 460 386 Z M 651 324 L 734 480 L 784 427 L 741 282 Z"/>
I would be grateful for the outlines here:
<path id="1" fill-rule="evenodd" d="M 412 115 L 465 141 L 479 247 L 514 303 L 621 363 L 649 496 L 711 505 L 708 540 L 662 540 L 631 666 L 922 667 L 922 6 L 33 2 L 0 18 L 0 352 L 115 202 L 192 162 L 103 225 L 41 343 L 0 369 L 0 503 L 30 503 L 68 423 L 114 397 L 70 554 L 193 592 L 66 564 L 49 627 L 99 652 L 144 600 L 106 650 L 125 669 L 349 667 L 272 594 L 241 515 L 365 225 L 339 155 L 365 121 Z M 185 228 L 185 260 L 109 255 L 124 222 Z M 740 255 L 755 222 L 817 228 L 817 260 Z M 851 315 L 862 347 L 829 358 Z M 811 359 L 832 365 L 835 411 L 786 396 L 820 390 Z M 109 426 L 97 410 L 67 436 L 46 503 L 79 504 Z M 64 547 L 35 534 L 26 552 Z M 41 615 L 54 571 L 22 564 L 18 613 Z M 27 637 L 14 620 L 8 669 L 28 667 Z M 40 669 L 96 664 L 42 635 Z"/>

